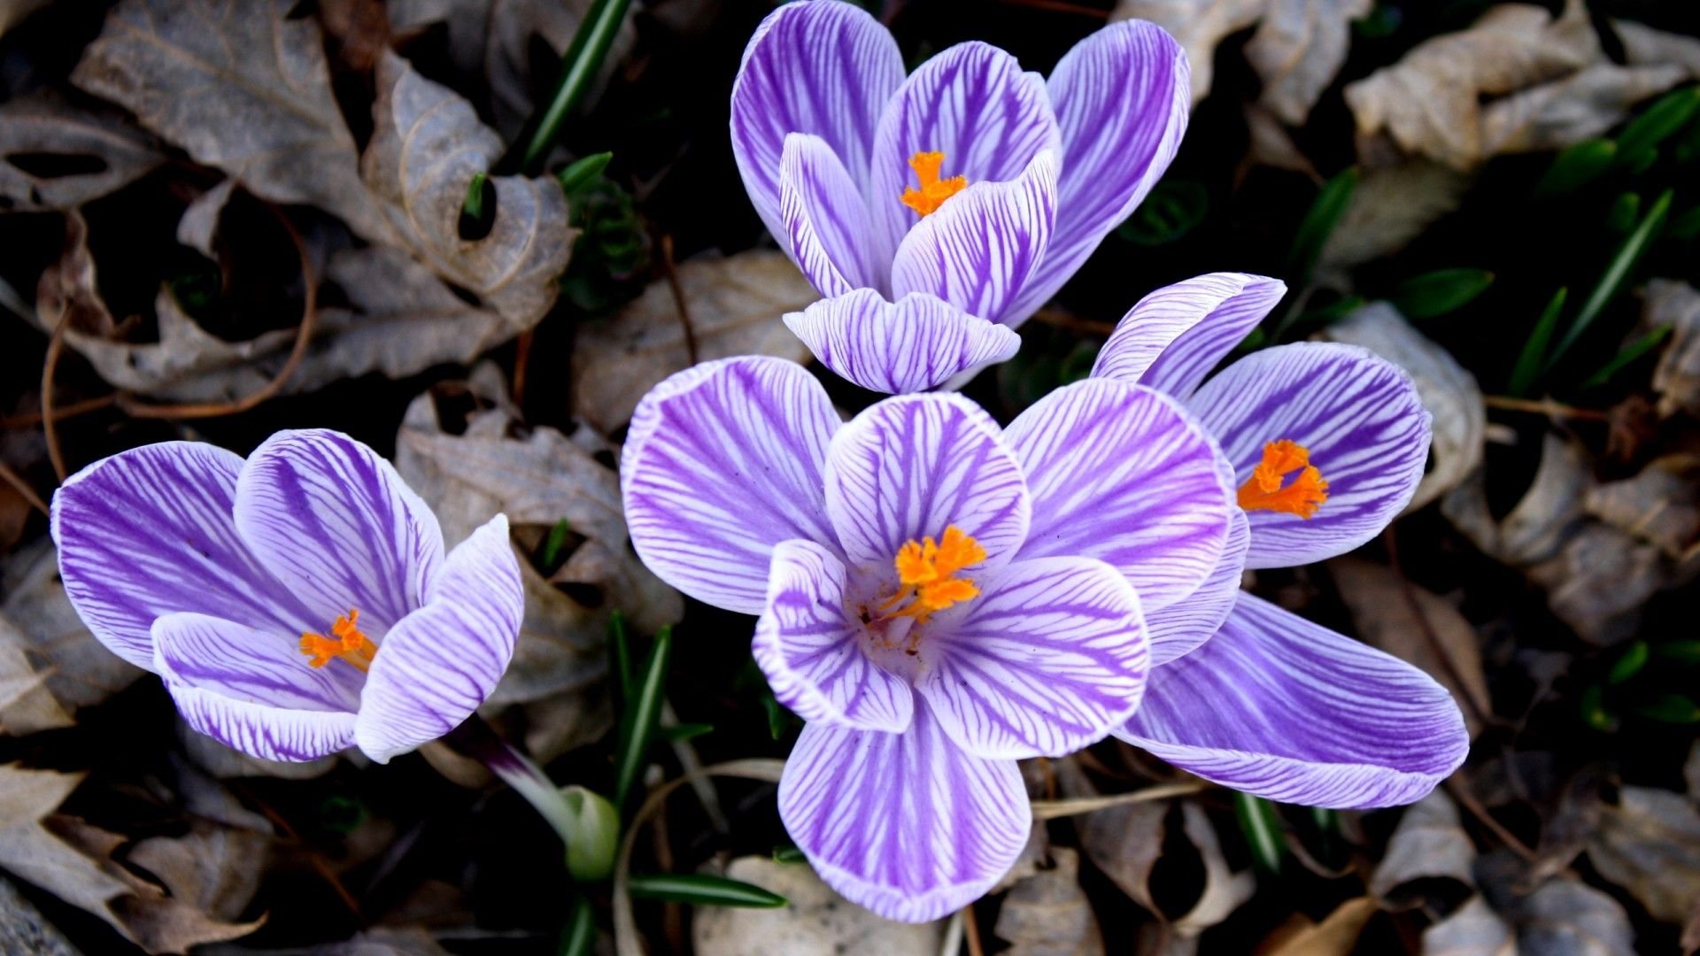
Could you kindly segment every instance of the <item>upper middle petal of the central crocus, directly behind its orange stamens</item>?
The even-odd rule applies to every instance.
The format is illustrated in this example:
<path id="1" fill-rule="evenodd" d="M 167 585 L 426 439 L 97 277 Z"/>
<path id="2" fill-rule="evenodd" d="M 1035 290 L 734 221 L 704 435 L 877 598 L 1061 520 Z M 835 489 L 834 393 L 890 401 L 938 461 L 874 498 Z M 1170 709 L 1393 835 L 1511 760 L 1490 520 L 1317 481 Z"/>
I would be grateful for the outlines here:
<path id="1" fill-rule="evenodd" d="M 949 526 L 998 566 L 1027 538 L 1030 505 L 991 415 L 960 395 L 930 393 L 887 398 L 833 435 L 826 514 L 852 566 L 889 572 L 906 541 Z"/>

